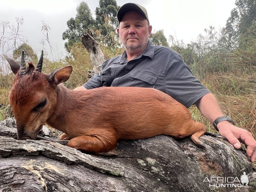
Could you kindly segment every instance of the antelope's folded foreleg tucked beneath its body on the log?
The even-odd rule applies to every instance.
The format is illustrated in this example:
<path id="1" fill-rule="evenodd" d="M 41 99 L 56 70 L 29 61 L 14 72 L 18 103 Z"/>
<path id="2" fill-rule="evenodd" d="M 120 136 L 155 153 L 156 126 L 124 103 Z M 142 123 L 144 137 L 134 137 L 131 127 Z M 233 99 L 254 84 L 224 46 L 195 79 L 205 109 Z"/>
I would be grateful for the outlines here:
<path id="1" fill-rule="evenodd" d="M 68 142 L 68 147 L 98 153 L 104 156 L 117 155 L 116 134 L 113 132 L 98 132 L 90 135 L 78 136 Z"/>

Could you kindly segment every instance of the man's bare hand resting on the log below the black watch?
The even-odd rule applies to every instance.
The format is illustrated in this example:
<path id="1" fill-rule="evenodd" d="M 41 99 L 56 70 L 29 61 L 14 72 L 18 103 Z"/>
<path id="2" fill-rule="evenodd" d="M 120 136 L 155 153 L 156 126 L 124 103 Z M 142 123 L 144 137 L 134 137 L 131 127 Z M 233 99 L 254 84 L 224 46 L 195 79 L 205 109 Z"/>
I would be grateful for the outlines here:
<path id="1" fill-rule="evenodd" d="M 228 121 L 222 121 L 217 125 L 220 135 L 227 138 L 227 140 L 237 149 L 241 148 L 241 143 L 247 148 L 246 154 L 251 157 L 251 162 L 256 159 L 256 141 L 252 134 L 245 129 L 236 127 Z"/>

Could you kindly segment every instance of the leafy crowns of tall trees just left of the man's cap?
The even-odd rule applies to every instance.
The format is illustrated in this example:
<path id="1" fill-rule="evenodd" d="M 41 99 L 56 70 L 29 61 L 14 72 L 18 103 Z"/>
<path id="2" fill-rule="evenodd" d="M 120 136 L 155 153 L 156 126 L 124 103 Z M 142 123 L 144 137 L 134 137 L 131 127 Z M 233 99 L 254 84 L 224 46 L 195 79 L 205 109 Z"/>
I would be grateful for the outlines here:
<path id="1" fill-rule="evenodd" d="M 67 21 L 68 29 L 62 34 L 62 39 L 68 40 L 65 42 L 66 50 L 80 42 L 82 34 L 88 28 L 100 32 L 100 36 L 103 38 L 96 36 L 98 41 L 101 39 L 100 43 L 113 46 L 117 38 L 118 21 L 116 14 L 118 9 L 119 6 L 117 6 L 116 0 L 100 0 L 99 7 L 96 7 L 95 10 L 96 20 L 94 20 L 88 4 L 80 3 L 76 8 L 76 17 Z"/>

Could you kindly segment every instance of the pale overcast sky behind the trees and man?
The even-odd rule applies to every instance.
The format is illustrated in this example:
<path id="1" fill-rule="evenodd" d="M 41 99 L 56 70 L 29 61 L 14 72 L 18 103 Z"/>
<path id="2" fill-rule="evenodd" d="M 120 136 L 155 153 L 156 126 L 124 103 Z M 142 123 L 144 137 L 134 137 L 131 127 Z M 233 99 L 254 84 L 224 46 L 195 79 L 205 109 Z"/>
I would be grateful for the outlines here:
<path id="1" fill-rule="evenodd" d="M 67 29 L 67 21 L 76 16 L 76 7 L 82 0 L 1 0 L 0 21 L 9 21 L 10 25 L 17 25 L 15 17 L 23 17 L 24 24 L 20 34 L 32 48 L 40 54 L 42 39 L 44 38 L 42 21 L 51 28 L 49 38 L 54 49 L 53 57 L 50 48 L 46 46 L 48 57 L 58 59 L 66 55 L 62 33 Z M 98 0 L 85 0 L 95 18 L 95 8 Z M 116 0 L 117 5 L 131 1 Z M 230 11 L 235 7 L 235 0 L 137 0 L 148 11 L 153 32 L 163 29 L 168 39 L 170 35 L 185 43 L 196 41 L 197 36 L 210 25 L 216 28 L 225 27 Z M 3 28 L 0 26 L 0 38 Z M 5 31 L 6 33 L 7 31 Z M 5 34 L 10 36 L 9 34 Z M 7 44 L 5 45 L 7 46 Z M 10 45 L 9 45 L 10 46 Z M 2 45 L 0 54 L 2 53 Z"/>

